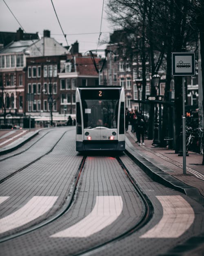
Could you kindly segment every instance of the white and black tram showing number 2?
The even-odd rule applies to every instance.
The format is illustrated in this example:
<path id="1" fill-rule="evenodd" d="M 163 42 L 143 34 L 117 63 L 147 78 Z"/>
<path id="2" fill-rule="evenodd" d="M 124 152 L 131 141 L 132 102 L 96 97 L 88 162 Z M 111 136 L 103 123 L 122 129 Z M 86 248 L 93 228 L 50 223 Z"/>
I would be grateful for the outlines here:
<path id="1" fill-rule="evenodd" d="M 76 88 L 76 151 L 124 151 L 124 119 L 124 88 Z"/>

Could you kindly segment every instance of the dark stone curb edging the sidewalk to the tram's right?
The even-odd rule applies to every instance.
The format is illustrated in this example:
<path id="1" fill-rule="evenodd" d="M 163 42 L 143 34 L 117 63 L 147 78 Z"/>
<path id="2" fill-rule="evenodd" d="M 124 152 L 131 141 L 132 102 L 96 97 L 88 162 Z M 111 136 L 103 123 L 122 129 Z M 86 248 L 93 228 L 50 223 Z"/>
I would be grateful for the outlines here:
<path id="1" fill-rule="evenodd" d="M 125 150 L 125 153 L 137 164 L 140 168 L 149 176 L 153 181 L 156 181 L 164 186 L 173 188 L 181 193 L 184 193 L 188 197 L 191 197 L 196 202 L 204 206 L 204 197 L 200 194 L 200 191 L 192 186 L 189 186 L 182 181 L 172 177 L 170 174 L 162 171 L 159 167 L 145 159 L 143 156 L 140 156 L 136 152 L 135 155 L 131 154 L 128 150 Z"/>

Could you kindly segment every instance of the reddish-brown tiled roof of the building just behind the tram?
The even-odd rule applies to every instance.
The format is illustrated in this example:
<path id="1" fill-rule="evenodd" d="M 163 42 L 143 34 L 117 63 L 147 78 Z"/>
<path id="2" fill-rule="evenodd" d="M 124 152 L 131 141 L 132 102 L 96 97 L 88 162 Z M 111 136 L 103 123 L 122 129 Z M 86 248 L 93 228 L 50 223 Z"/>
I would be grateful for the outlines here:
<path id="1" fill-rule="evenodd" d="M 98 64 L 100 58 L 95 58 L 96 64 Z M 76 71 L 79 75 L 98 76 L 98 72 L 95 70 L 93 61 L 90 56 L 88 57 L 75 57 Z"/>

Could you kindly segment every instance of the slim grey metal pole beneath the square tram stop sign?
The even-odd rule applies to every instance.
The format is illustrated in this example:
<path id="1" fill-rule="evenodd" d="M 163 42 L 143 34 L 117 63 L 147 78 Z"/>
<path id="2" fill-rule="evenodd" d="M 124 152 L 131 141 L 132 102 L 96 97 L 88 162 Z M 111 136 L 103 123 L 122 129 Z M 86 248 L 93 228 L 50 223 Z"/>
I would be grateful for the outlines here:
<path id="1" fill-rule="evenodd" d="M 182 77 L 182 92 L 183 92 L 183 174 L 186 174 L 186 115 L 185 115 L 185 79 Z"/>

